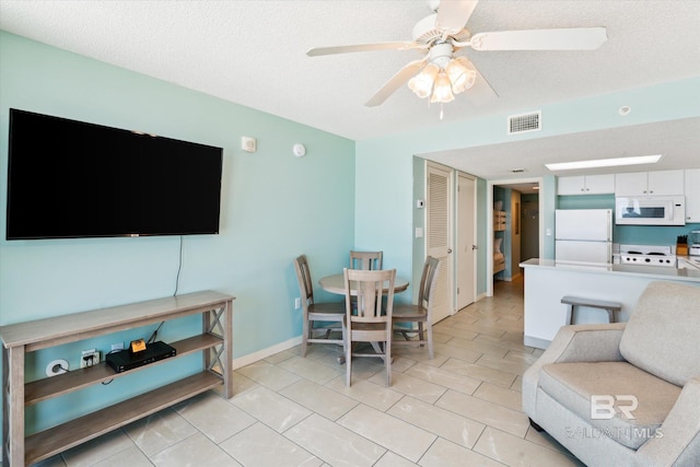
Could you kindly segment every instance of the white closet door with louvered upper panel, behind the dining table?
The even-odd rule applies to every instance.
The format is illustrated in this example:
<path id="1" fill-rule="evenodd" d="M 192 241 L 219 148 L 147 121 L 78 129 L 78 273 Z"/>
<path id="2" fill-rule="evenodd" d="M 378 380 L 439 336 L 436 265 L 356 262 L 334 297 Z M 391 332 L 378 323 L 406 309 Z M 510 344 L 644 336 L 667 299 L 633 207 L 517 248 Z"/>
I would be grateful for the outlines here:
<path id="1" fill-rule="evenodd" d="M 428 162 L 425 202 L 425 246 L 428 255 L 442 259 L 433 303 L 433 323 L 454 311 L 452 264 L 452 168 Z"/>

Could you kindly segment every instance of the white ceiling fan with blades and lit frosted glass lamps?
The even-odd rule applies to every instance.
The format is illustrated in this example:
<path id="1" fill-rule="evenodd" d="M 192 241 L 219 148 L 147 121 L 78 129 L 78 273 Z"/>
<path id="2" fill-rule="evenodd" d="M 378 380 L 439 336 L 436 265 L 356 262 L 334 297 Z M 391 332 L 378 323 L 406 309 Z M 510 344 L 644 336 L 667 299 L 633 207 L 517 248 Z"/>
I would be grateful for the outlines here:
<path id="1" fill-rule="evenodd" d="M 404 83 L 419 97 L 430 102 L 447 103 L 482 81 L 481 73 L 465 56 L 455 52 L 471 47 L 474 50 L 594 50 L 607 40 L 605 27 L 574 27 L 552 30 L 502 31 L 471 34 L 465 26 L 478 0 L 428 0 L 435 13 L 413 26 L 412 40 L 359 44 L 335 47 L 314 47 L 310 57 L 374 50 L 417 49 L 424 54 L 389 79 L 366 106 L 374 107 L 386 101 Z"/>

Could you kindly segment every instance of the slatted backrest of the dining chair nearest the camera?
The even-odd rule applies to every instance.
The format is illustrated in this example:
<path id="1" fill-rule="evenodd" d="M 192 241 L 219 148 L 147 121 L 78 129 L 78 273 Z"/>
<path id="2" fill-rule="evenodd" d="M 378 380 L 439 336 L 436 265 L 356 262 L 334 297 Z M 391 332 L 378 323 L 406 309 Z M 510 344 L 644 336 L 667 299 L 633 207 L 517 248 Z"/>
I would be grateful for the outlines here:
<path id="1" fill-rule="evenodd" d="M 368 271 L 345 268 L 343 276 L 346 312 L 349 320 L 355 323 L 392 322 L 396 269 Z M 353 294 L 357 296 L 357 305 L 351 302 Z"/>

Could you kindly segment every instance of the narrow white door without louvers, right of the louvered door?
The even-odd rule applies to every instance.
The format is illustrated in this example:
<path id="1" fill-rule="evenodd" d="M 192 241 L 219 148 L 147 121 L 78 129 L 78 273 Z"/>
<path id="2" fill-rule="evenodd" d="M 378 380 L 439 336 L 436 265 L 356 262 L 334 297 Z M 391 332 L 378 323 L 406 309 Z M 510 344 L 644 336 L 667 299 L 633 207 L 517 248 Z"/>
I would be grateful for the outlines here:
<path id="1" fill-rule="evenodd" d="M 476 180 L 466 174 L 457 177 L 457 307 L 476 297 Z"/>

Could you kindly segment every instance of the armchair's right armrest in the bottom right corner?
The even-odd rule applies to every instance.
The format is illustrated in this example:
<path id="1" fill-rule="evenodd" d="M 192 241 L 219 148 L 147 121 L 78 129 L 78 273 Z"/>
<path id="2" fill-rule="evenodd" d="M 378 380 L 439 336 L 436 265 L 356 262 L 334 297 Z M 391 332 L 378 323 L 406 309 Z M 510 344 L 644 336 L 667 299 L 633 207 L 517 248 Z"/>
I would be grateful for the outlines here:
<path id="1" fill-rule="evenodd" d="M 640 466 L 700 465 L 700 376 L 682 387 L 657 432 L 637 451 Z"/>

